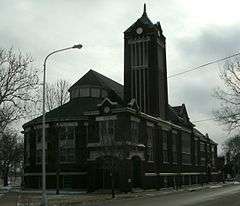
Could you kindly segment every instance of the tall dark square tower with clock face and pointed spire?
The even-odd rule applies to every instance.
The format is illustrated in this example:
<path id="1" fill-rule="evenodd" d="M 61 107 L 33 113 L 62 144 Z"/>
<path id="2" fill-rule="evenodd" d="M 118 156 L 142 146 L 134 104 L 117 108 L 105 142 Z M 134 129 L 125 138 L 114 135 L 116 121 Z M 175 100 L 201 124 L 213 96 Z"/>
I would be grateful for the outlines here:
<path id="1" fill-rule="evenodd" d="M 167 119 L 165 36 L 153 24 L 146 5 L 141 18 L 124 32 L 124 100 L 136 99 L 142 112 Z"/>

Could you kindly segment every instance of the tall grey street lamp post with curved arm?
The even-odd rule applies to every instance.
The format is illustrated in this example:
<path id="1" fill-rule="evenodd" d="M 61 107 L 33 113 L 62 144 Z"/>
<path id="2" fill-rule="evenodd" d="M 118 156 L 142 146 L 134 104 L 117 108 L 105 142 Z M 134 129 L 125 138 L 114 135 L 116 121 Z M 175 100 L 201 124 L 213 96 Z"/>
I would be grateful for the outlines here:
<path id="1" fill-rule="evenodd" d="M 72 47 L 67 47 L 64 49 L 59 49 L 59 50 L 55 50 L 53 52 L 51 52 L 50 54 L 48 54 L 46 56 L 46 58 L 44 59 L 44 64 L 43 64 L 43 116 L 42 116 L 42 205 L 43 206 L 47 206 L 47 194 L 46 194 L 46 153 L 45 153 L 45 139 L 46 139 L 46 133 L 45 133 L 45 116 L 46 116 L 46 111 L 45 111 L 45 90 L 46 90 L 46 63 L 47 63 L 47 59 L 48 57 L 50 57 L 51 55 L 57 53 L 57 52 L 62 52 L 65 50 L 69 50 L 69 49 L 81 49 L 82 45 L 81 44 L 77 44 L 74 45 Z"/>

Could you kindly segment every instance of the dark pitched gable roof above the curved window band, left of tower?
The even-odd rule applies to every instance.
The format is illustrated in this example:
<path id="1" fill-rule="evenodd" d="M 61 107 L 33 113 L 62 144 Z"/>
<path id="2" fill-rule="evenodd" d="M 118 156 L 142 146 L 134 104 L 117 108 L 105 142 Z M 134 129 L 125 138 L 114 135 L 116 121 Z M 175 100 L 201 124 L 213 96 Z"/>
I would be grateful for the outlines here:
<path id="1" fill-rule="evenodd" d="M 123 85 L 94 70 L 89 70 L 81 79 L 70 87 L 69 91 L 81 85 L 100 86 L 107 90 L 114 91 L 121 99 L 123 99 Z"/>

